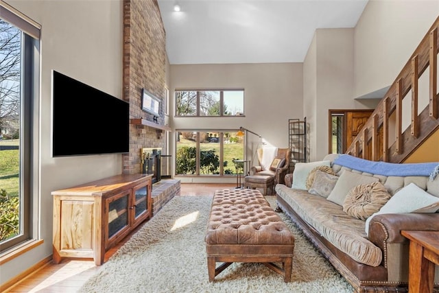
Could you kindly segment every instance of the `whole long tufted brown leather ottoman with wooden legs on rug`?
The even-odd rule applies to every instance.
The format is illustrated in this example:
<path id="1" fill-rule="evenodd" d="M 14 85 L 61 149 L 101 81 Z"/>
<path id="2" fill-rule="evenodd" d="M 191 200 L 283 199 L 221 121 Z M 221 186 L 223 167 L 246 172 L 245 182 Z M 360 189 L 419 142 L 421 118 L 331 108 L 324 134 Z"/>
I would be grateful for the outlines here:
<path id="1" fill-rule="evenodd" d="M 258 190 L 215 191 L 204 239 L 211 282 L 233 262 L 264 263 L 291 279 L 294 236 Z"/>

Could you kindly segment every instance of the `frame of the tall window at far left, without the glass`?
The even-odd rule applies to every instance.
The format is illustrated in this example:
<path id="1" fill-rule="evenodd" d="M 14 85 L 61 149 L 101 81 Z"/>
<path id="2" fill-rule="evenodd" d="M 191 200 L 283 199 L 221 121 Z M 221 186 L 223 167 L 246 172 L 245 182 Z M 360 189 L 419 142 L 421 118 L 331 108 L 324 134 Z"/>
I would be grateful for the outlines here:
<path id="1" fill-rule="evenodd" d="M 40 101 L 40 25 L 6 3 L 0 15 L 21 30 L 21 97 L 19 141 L 19 235 L 0 242 L 1 263 L 18 247 L 29 249 L 38 237 L 38 105 Z M 40 242 L 39 242 L 40 243 Z"/>

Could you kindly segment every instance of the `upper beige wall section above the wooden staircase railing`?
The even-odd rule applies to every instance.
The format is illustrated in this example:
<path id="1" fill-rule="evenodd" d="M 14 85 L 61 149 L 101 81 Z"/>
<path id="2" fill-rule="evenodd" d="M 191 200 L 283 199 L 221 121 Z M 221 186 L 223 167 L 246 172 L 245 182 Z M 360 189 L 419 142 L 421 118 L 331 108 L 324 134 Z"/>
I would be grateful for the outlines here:
<path id="1" fill-rule="evenodd" d="M 390 86 L 438 15 L 439 1 L 368 1 L 355 27 L 354 97 Z"/>

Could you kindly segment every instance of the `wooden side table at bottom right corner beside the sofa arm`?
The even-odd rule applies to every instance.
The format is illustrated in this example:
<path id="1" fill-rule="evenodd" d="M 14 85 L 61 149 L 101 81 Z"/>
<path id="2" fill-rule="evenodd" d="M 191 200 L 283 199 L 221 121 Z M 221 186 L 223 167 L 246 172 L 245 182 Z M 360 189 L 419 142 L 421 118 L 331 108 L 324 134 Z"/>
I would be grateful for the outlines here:
<path id="1" fill-rule="evenodd" d="M 401 231 L 401 235 L 410 239 L 409 292 L 433 292 L 439 231 Z"/>

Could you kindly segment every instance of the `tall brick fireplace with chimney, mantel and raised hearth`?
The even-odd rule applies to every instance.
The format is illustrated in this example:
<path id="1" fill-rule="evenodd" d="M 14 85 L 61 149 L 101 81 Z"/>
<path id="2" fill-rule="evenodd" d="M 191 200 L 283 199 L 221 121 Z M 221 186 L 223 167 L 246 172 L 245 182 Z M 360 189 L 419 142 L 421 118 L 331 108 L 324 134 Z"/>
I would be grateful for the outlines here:
<path id="1" fill-rule="evenodd" d="M 130 103 L 131 119 L 130 153 L 123 155 L 123 173 L 141 173 L 144 169 L 152 172 L 156 181 L 152 186 L 153 215 L 171 198 L 180 195 L 180 180 L 170 176 L 160 180 L 161 173 L 154 174 L 161 169 L 160 163 L 157 167 L 150 160 L 156 154 L 151 151 L 147 161 L 143 155 L 145 149 L 161 150 L 161 156 L 167 155 L 166 131 L 170 128 L 165 126 L 163 109 L 166 66 L 165 28 L 157 0 L 123 0 L 123 99 Z M 158 116 L 141 109 L 143 89 L 162 99 Z"/>

